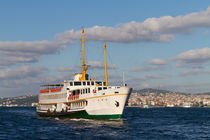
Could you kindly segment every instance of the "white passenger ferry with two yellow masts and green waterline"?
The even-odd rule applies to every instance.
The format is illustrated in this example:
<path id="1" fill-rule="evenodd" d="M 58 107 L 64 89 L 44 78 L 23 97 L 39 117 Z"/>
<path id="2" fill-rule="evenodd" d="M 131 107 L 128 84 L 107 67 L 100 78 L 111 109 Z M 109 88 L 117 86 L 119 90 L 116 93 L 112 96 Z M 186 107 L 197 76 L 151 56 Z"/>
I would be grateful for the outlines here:
<path id="1" fill-rule="evenodd" d="M 105 81 L 89 78 L 82 28 L 82 72 L 73 80 L 40 86 L 37 115 L 40 117 L 121 119 L 132 88 L 108 85 L 106 43 L 104 42 Z"/>

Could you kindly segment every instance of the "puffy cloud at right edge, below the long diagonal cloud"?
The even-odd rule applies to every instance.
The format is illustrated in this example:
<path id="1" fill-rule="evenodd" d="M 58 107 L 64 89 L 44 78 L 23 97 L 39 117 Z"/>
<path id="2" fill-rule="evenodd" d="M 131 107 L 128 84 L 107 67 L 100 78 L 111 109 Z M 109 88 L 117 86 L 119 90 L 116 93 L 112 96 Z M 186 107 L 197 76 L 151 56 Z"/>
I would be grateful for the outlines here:
<path id="1" fill-rule="evenodd" d="M 189 50 L 175 57 L 177 67 L 201 67 L 210 60 L 210 48 Z"/>

